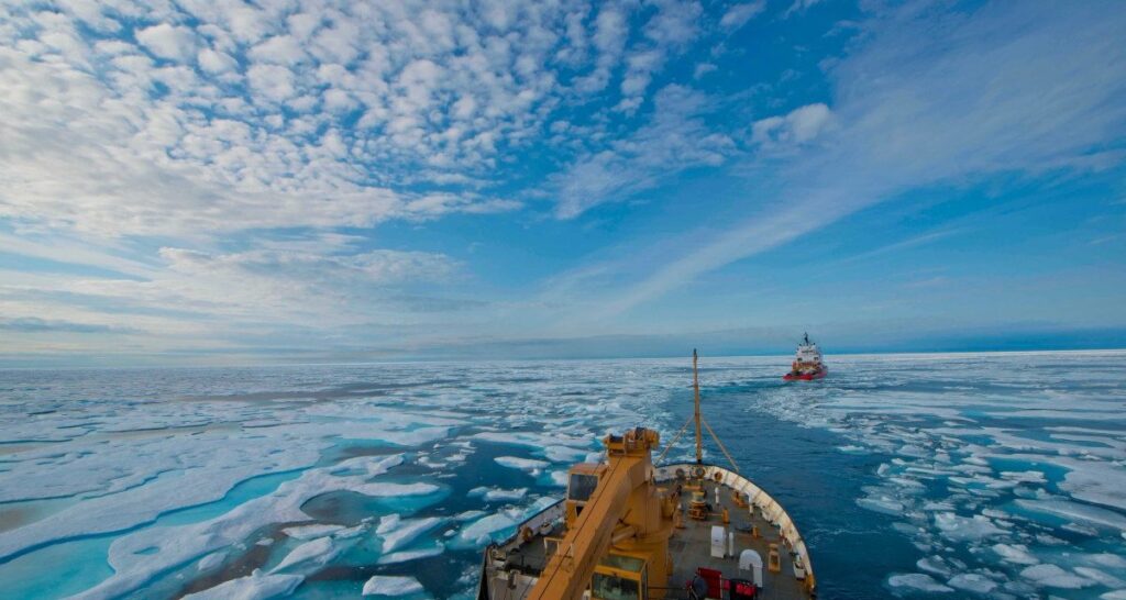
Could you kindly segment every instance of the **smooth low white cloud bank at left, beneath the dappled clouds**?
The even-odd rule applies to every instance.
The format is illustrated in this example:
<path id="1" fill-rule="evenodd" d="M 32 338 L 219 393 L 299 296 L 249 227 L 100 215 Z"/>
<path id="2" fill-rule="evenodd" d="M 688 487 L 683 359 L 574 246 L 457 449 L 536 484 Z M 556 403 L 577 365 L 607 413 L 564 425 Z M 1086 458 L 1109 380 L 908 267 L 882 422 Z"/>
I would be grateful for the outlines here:
<path id="1" fill-rule="evenodd" d="M 445 254 L 356 251 L 355 242 L 325 234 L 262 241 L 262 248 L 243 252 L 162 248 L 162 265 L 131 279 L 19 274 L 0 285 L 0 313 L 33 341 L 70 331 L 125 337 L 135 348 L 170 340 L 177 349 L 214 348 L 225 344 L 217 339 L 226 335 L 276 338 L 279 331 L 379 321 L 405 325 L 418 316 L 397 297 L 420 289 L 440 294 L 464 279 L 462 265 Z M 440 295 L 418 297 L 443 306 Z M 440 312 L 430 316 L 440 317 Z M 88 337 L 104 346 L 99 335 Z"/>

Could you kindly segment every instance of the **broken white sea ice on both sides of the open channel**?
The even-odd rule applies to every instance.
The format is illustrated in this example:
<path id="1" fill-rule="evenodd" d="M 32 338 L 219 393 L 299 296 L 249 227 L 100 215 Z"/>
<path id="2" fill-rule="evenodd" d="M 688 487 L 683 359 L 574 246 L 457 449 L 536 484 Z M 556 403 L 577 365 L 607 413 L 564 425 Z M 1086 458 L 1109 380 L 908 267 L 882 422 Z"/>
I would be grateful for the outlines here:
<path id="1" fill-rule="evenodd" d="M 1126 539 L 1126 527 L 1123 527 L 1126 521 L 1119 520 L 1123 519 L 1120 509 L 1126 490 L 1126 484 L 1121 483 L 1126 474 L 1121 458 L 1126 440 L 1118 427 L 1124 397 L 1121 358 L 1115 358 L 1109 366 L 1103 361 L 1102 367 L 1072 368 L 1080 362 L 1084 366 L 1091 362 L 1088 355 L 1083 356 L 1087 358 L 1079 355 L 850 358 L 850 364 L 841 364 L 838 378 L 821 386 L 824 389 L 769 386 L 751 395 L 747 410 L 834 431 L 839 437 L 833 438 L 829 448 L 839 445 L 844 450 L 844 454 L 834 451 L 835 460 L 851 460 L 848 456 L 851 453 L 875 455 L 902 450 L 894 460 L 870 474 L 884 484 L 867 486 L 872 490 L 866 489 L 856 500 L 865 509 L 896 514 L 896 519 L 888 519 L 896 521 L 891 535 L 906 536 L 923 549 L 923 556 L 928 556 L 917 563 L 918 573 L 902 574 L 910 568 L 909 561 L 897 567 L 901 574 L 893 575 L 897 577 L 894 582 L 885 580 L 896 593 L 926 593 L 911 588 L 910 584 L 915 583 L 922 588 L 937 586 L 933 593 L 968 597 L 972 592 L 967 588 L 1008 580 L 989 594 L 998 599 L 1046 597 L 1049 584 L 1045 581 L 1067 583 L 1071 577 L 1089 584 L 1082 592 L 1067 588 L 1051 591 L 1058 595 L 1082 593 L 1084 598 L 1096 598 L 1101 593 L 1105 599 L 1116 595 L 1120 599 L 1126 593 L 1110 590 L 1121 588 L 1114 585 L 1114 580 L 1126 577 L 1123 573 L 1126 565 L 1118 564 L 1121 561 L 1118 550 Z M 307 532 L 293 537 L 305 538 L 301 539 L 304 543 L 327 538 L 332 546 L 348 546 L 352 544 L 348 535 L 364 536 L 372 526 L 328 530 L 295 525 L 314 522 L 300 510 L 303 503 L 322 493 L 339 491 L 384 499 L 391 498 L 386 494 L 399 492 L 421 494 L 420 501 L 437 498 L 436 492 L 444 490 L 441 485 L 397 486 L 436 485 L 441 478 L 452 477 L 461 467 L 440 463 L 468 456 L 473 451 L 471 437 L 522 446 L 526 451 L 510 451 L 544 459 L 536 460 L 543 464 L 536 466 L 529 463 L 507 465 L 524 472 L 540 469 L 543 473 L 528 493 L 542 493 L 549 483 L 565 484 L 565 471 L 555 471 L 562 464 L 582 458 L 600 459 L 601 453 L 588 453 L 595 447 L 592 440 L 608 430 L 620 431 L 620 428 L 636 424 L 638 412 L 652 414 L 644 424 L 660 428 L 662 432 L 669 432 L 672 427 L 674 431 L 679 419 L 667 414 L 663 405 L 652 410 L 655 397 L 682 388 L 682 365 L 676 369 L 670 366 L 631 362 L 625 369 L 628 375 L 622 376 L 620 362 L 584 365 L 583 370 L 590 373 L 581 382 L 579 379 L 583 378 L 570 377 L 572 367 L 548 364 L 501 366 L 488 369 L 486 376 L 479 375 L 481 369 L 450 367 L 437 379 L 429 367 L 388 366 L 379 367 L 378 383 L 369 370 L 361 374 L 365 369 L 357 369 L 354 374 L 351 367 L 333 367 L 331 385 L 327 385 L 324 374 L 315 369 L 271 369 L 256 375 L 260 378 L 243 394 L 250 397 L 260 392 L 265 400 L 239 400 L 241 396 L 236 396 L 206 402 L 150 402 L 153 397 L 227 395 L 232 387 L 230 380 L 206 380 L 199 384 L 200 389 L 191 393 L 153 393 L 149 386 L 161 384 L 146 380 L 148 377 L 137 377 L 136 391 L 123 395 L 138 398 L 138 402 L 88 401 L 96 394 L 84 391 L 72 392 L 70 397 L 81 402 L 71 404 L 44 395 L 35 398 L 36 403 L 44 404 L 37 409 L 56 409 L 66 414 L 12 419 L 11 424 L 3 424 L 5 439 L 0 441 L 21 437 L 62 441 L 0 447 L 0 451 L 14 450 L 3 456 L 7 471 L 0 472 L 0 500 L 42 498 L 44 494 L 65 495 L 72 500 L 52 508 L 53 514 L 45 511 L 37 516 L 38 520 L 32 522 L 36 527 L 28 529 L 34 535 L 25 531 L 11 537 L 18 529 L 0 532 L 0 555 L 6 549 L 16 548 L 19 553 L 24 552 L 20 548 L 51 544 L 66 536 L 98 532 L 99 528 L 109 525 L 114 530 L 120 527 L 108 556 L 115 572 L 86 594 L 87 598 L 106 598 L 143 595 L 149 583 L 163 585 L 166 577 L 190 576 L 196 573 L 197 565 L 209 564 L 216 559 L 213 556 L 222 553 L 226 553 L 222 562 L 227 562 L 243 545 L 252 545 L 262 536 L 277 537 L 282 548 L 295 552 L 296 548 L 291 548 L 292 541 L 278 537 L 269 527 L 271 525 L 282 523 L 297 531 L 310 527 Z M 1004 366 L 1012 368 L 999 368 Z M 766 362 L 739 359 L 732 360 L 729 367 L 738 373 L 733 379 L 756 380 L 760 374 L 771 382 L 776 378 L 774 367 Z M 278 379 L 279 375 L 284 375 L 284 380 Z M 357 378 L 360 379 L 357 387 L 338 385 L 339 382 L 356 383 Z M 525 380 L 533 383 L 522 383 Z M 385 385 L 386 382 L 394 383 Z M 605 382 L 613 382 L 613 386 Z M 338 388 L 340 395 L 333 396 Z M 282 389 L 285 391 L 280 394 L 274 393 Z M 538 402 L 545 396 L 552 401 Z M 334 397 L 347 400 L 337 402 Z M 278 406 L 275 400 L 287 403 Z M 1065 406 L 1061 400 L 1066 400 Z M 0 397 L 0 403 L 5 401 Z M 0 417 L 0 421 L 3 419 Z M 677 422 L 669 422 L 670 419 Z M 1071 419 L 1073 427 L 1043 427 L 1060 419 Z M 1091 426 L 1098 419 L 1107 424 Z M 178 430 L 178 426 L 188 427 Z M 464 431 L 466 438 L 443 441 L 455 428 Z M 1042 436 L 1045 429 L 1052 435 Z M 718 432 L 724 437 L 723 431 Z M 406 483 L 378 481 L 376 477 L 385 472 L 383 458 L 378 456 L 340 460 L 333 467 L 325 467 L 331 472 L 309 468 L 324 458 L 351 456 L 343 451 L 337 454 L 338 449 L 352 449 L 351 442 L 356 442 L 357 449 L 410 446 L 410 453 L 425 453 L 425 462 L 441 472 L 427 472 L 412 481 L 395 480 Z M 456 454 L 444 456 L 447 451 Z M 304 453 L 303 460 L 307 462 L 295 462 L 293 471 L 307 471 L 300 476 L 295 474 L 295 480 L 276 491 L 251 485 L 257 490 L 253 494 L 261 498 L 239 496 L 231 502 L 206 500 L 225 499 L 224 494 L 233 485 L 244 490 L 241 483 L 248 476 L 286 468 L 295 453 Z M 672 456 L 689 455 L 690 448 L 683 444 L 673 448 Z M 239 473 L 238 469 L 244 471 Z M 503 474 L 504 469 L 500 469 L 500 475 Z M 508 473 L 506 477 L 512 475 Z M 207 481 L 208 477 L 214 481 Z M 193 490 L 180 493 L 199 481 L 209 487 L 207 493 L 196 494 Z M 19 485 L 10 485 L 12 482 Z M 489 478 L 481 483 L 485 485 L 477 493 L 483 498 L 490 492 L 504 493 L 506 487 L 517 485 L 510 481 L 494 483 Z M 530 485 L 530 482 L 518 485 Z M 188 495 L 193 496 L 193 503 L 203 499 L 208 504 L 202 507 L 203 510 L 189 509 L 167 519 L 160 516 L 163 511 L 187 507 L 184 501 Z M 102 519 L 108 512 L 101 508 L 108 511 L 107 507 L 122 507 L 122 499 L 127 501 L 124 504 L 127 517 L 110 514 L 110 519 Z M 1015 499 L 1030 504 L 1015 503 Z M 99 504 L 99 500 L 104 504 Z M 71 501 L 83 511 L 90 511 L 66 513 L 66 502 Z M 536 505 L 539 502 L 537 500 Z M 1102 509 L 1088 502 L 1102 504 L 1107 510 L 1099 512 Z M 215 517 L 221 512 L 209 511 L 207 505 L 211 504 L 216 511 L 229 513 Z M 373 505 L 391 509 L 397 503 L 385 500 Z M 146 512 L 149 509 L 153 510 Z M 456 504 L 443 509 L 437 513 L 462 510 Z M 395 510 L 414 512 L 413 507 Z M 447 520 L 447 526 L 438 530 L 452 535 L 446 540 L 450 548 L 468 548 L 488 539 L 507 537 L 516 523 L 535 510 L 534 505 L 500 511 L 491 517 L 466 511 Z M 153 517 L 166 522 L 148 525 Z M 394 527 L 388 521 L 383 534 L 410 523 L 396 519 Z M 458 529 L 459 525 L 464 527 Z M 1109 534 L 1107 529 L 1117 531 Z M 1083 537 L 1073 532 L 1097 535 Z M 443 552 L 440 543 L 431 537 L 441 536 L 423 532 L 394 552 L 373 555 L 370 559 L 387 564 Z M 368 541 L 368 538 L 358 538 L 355 543 Z M 272 549 L 282 552 L 282 548 Z M 374 554 L 376 550 L 365 552 Z M 1064 557 L 1065 553 L 1071 557 Z M 449 561 L 455 565 L 452 577 L 457 576 L 456 567 L 465 562 L 461 554 L 464 553 L 450 553 Z M 947 558 L 942 561 L 938 554 Z M 351 553 L 348 556 L 346 568 L 351 566 Z M 972 564 L 956 566 L 951 562 L 954 556 Z M 1018 576 L 1025 567 L 1039 565 L 1038 559 L 1057 562 L 1064 568 L 1060 568 L 1062 573 L 1042 570 L 1030 571 L 1025 579 Z M 293 564 L 286 570 L 298 570 L 302 564 L 315 564 L 315 561 Z M 461 570 L 466 579 L 459 585 L 470 590 L 479 568 L 476 563 L 466 564 Z M 990 568 L 995 573 L 988 571 Z M 927 576 L 924 573 L 931 575 L 929 581 L 920 579 Z M 962 574 L 967 576 L 956 579 Z M 968 576 L 974 574 L 985 580 Z M 256 576 L 292 577 L 296 584 L 301 581 L 301 574 L 259 573 Z M 235 580 L 240 583 L 229 589 L 233 593 L 238 588 L 251 585 L 251 579 Z"/>

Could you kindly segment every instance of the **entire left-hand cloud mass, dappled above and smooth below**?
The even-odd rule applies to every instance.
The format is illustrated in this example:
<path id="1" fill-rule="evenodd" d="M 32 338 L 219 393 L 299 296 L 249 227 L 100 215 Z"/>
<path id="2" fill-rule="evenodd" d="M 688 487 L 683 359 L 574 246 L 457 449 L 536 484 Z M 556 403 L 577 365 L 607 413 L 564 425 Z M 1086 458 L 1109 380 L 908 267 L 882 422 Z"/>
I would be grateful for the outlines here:
<path id="1" fill-rule="evenodd" d="M 707 18 L 720 16 L 682 0 L 0 7 L 0 238 L 100 269 L 9 272 L 0 308 L 41 319 L 16 322 L 25 332 L 86 323 L 146 332 L 145 348 L 240 328 L 406 326 L 418 311 L 404 297 L 431 298 L 434 314 L 488 305 L 419 293 L 464 281 L 458 260 L 332 232 L 543 197 L 571 218 L 721 163 L 732 141 L 703 126 L 703 97 L 653 86 Z M 623 137 L 617 118 L 640 127 Z M 525 185 L 534 147 L 569 177 Z"/>

